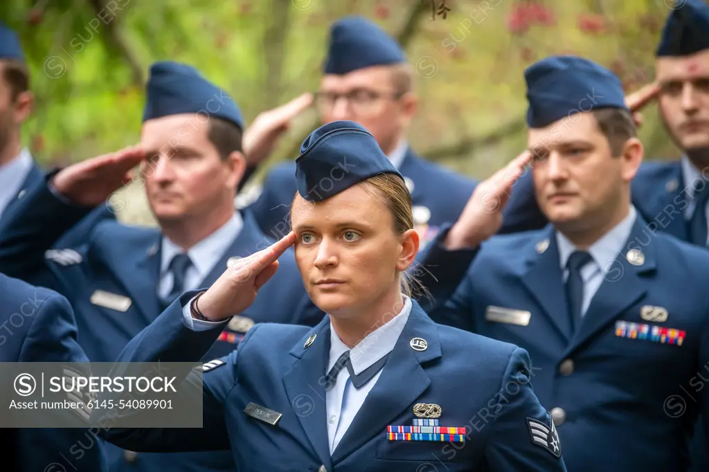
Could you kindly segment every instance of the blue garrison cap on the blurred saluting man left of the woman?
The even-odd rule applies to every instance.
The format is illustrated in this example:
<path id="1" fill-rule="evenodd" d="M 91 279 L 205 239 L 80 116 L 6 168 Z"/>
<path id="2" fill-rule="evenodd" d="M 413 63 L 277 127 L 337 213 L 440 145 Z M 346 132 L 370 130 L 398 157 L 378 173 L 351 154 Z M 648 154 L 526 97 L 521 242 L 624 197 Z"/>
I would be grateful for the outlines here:
<path id="1" fill-rule="evenodd" d="M 244 129 L 238 105 L 197 69 L 179 62 L 155 62 L 146 86 L 143 121 L 180 113 L 203 113 Z"/>

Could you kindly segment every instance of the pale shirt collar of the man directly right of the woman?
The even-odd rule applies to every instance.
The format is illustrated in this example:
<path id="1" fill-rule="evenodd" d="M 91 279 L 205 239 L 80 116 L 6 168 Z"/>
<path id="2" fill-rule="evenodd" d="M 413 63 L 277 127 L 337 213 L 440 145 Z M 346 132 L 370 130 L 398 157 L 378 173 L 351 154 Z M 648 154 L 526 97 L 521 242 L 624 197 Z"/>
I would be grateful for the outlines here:
<path id="1" fill-rule="evenodd" d="M 635 210 L 635 206 L 631 205 L 627 216 L 588 248 L 588 253 L 593 257 L 593 262 L 596 262 L 598 267 L 601 267 L 604 276 L 612 265 L 608 262 L 615 261 L 618 254 L 623 252 L 623 246 L 630 237 L 635 218 L 637 218 L 637 210 Z M 569 260 L 569 256 L 576 251 L 576 246 L 559 231 L 556 231 L 556 237 L 557 247 L 559 247 L 559 263 L 563 271 L 566 269 L 566 262 Z"/>

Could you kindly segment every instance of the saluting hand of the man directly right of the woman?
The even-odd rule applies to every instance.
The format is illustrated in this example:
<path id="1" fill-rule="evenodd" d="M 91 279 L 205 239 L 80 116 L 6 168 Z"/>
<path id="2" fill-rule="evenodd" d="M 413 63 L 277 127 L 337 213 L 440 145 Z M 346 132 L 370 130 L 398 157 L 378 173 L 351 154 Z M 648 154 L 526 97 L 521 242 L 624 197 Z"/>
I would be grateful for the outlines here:
<path id="1" fill-rule="evenodd" d="M 477 247 L 500 230 L 503 209 L 510 199 L 512 187 L 531 160 L 532 155 L 525 151 L 475 187 L 463 212 L 448 232 L 445 240 L 448 249 Z"/>

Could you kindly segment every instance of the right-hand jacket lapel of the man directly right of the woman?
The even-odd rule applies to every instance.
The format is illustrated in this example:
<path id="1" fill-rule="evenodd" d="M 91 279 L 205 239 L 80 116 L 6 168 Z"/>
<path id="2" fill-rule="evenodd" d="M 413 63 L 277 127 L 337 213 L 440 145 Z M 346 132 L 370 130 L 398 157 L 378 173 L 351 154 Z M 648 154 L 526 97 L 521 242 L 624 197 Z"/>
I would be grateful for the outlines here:
<path id="1" fill-rule="evenodd" d="M 591 299 L 584 320 L 574 338 L 571 339 L 564 357 L 569 356 L 574 349 L 580 347 L 613 319 L 618 318 L 620 313 L 627 310 L 647 292 L 647 276 L 656 268 L 656 242 L 654 238 L 650 238 L 646 244 L 637 243 L 641 241 L 646 226 L 642 218 L 635 220 L 628 241 Z M 630 251 L 633 253 L 628 257 Z M 634 261 L 635 264 L 630 261 Z"/>

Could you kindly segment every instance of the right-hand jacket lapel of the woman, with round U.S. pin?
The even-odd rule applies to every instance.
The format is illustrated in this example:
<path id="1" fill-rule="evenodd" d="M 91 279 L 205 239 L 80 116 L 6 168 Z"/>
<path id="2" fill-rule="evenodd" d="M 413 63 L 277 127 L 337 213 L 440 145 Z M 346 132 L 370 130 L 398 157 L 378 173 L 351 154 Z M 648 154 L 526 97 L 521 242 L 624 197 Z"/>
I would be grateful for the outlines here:
<path id="1" fill-rule="evenodd" d="M 425 351 L 416 351 L 411 347 L 411 339 L 416 337 L 428 342 Z M 333 464 L 345 459 L 376 435 L 384 437 L 386 426 L 401 415 L 403 410 L 413 406 L 416 398 L 430 385 L 430 378 L 421 364 L 440 356 L 436 325 L 413 301 L 411 315 L 394 345 L 389 361 L 333 452 Z"/>

